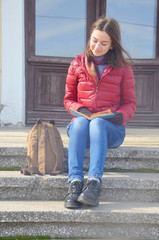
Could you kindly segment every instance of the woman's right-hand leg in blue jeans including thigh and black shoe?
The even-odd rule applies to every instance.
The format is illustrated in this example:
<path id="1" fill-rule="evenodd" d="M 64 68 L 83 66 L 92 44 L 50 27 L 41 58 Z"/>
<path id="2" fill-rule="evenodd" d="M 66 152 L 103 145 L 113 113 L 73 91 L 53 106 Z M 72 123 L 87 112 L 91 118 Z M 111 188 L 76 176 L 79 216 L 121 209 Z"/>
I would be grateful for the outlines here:
<path id="1" fill-rule="evenodd" d="M 88 181 L 78 201 L 97 206 L 101 192 L 101 180 L 107 148 L 118 147 L 125 137 L 125 128 L 113 123 L 95 118 L 89 125 L 90 137 L 90 168 Z"/>

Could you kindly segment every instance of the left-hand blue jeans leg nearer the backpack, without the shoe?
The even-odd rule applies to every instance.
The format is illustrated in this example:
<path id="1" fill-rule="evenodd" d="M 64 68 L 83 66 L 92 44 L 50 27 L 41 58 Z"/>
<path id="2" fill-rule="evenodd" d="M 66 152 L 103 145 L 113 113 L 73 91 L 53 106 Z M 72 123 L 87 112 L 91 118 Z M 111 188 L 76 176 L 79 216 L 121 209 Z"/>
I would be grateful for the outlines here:
<path id="1" fill-rule="evenodd" d="M 68 127 L 68 182 L 73 179 L 83 181 L 83 160 L 89 134 L 89 121 L 84 117 L 76 118 Z"/>

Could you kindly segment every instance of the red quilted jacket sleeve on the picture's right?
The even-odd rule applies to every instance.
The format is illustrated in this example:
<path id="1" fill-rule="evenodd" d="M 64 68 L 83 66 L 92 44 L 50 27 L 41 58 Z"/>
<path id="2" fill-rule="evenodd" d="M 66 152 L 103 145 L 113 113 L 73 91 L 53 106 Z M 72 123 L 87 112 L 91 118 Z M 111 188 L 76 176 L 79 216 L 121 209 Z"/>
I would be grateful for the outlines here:
<path id="1" fill-rule="evenodd" d="M 132 118 L 136 110 L 134 75 L 130 66 L 123 69 L 121 95 L 122 102 L 118 112 L 123 114 L 123 122 L 125 124 Z"/>

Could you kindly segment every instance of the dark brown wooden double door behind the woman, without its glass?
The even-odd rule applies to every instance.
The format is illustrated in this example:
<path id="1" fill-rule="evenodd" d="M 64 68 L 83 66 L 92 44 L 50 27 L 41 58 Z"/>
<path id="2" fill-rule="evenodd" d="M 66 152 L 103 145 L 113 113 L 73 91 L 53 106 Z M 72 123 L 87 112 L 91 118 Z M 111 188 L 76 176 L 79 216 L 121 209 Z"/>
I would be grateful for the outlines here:
<path id="1" fill-rule="evenodd" d="M 159 127 L 159 0 L 153 1 L 157 2 L 155 56 L 135 59 L 137 109 L 128 123 L 132 127 Z M 86 2 L 85 42 L 90 26 L 99 16 L 106 15 L 108 3 L 112 1 Z M 58 126 L 66 126 L 71 117 L 63 106 L 63 98 L 67 70 L 74 57 L 36 54 L 35 15 L 35 0 L 25 0 L 26 124 L 34 124 L 37 118 L 42 118 L 54 119 Z"/>

